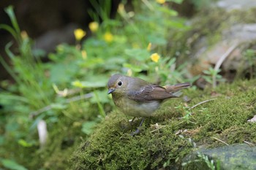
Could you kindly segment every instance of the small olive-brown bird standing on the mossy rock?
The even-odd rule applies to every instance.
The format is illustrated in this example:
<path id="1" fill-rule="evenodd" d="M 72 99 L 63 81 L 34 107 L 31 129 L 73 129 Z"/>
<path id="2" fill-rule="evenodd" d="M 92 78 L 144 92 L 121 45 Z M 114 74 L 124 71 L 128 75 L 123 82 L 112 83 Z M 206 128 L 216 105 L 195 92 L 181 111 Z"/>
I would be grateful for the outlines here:
<path id="1" fill-rule="evenodd" d="M 116 107 L 125 115 L 143 117 L 140 127 L 144 117 L 152 116 L 162 101 L 180 96 L 178 90 L 188 88 L 190 85 L 189 82 L 185 82 L 162 87 L 139 78 L 114 74 L 108 80 L 108 94 L 112 93 Z M 139 128 L 133 134 L 138 132 Z"/>

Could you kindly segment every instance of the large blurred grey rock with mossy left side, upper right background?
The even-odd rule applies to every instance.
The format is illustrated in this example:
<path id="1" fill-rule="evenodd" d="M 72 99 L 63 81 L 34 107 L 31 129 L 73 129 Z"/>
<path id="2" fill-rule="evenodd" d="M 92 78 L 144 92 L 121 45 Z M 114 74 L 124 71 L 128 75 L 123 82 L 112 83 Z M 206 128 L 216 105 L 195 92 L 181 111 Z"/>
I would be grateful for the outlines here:
<path id="1" fill-rule="evenodd" d="M 216 66 L 220 58 L 225 59 L 220 62 L 219 69 L 229 82 L 236 73 L 248 72 L 250 64 L 245 52 L 256 49 L 256 20 L 249 16 L 255 15 L 256 8 L 253 7 L 256 3 L 251 1 L 248 5 L 244 1 L 237 4 L 232 1 L 239 10 L 230 10 L 230 3 L 219 1 L 212 7 L 212 12 L 192 20 L 192 35 L 187 41 L 191 47 L 189 77 L 203 74 L 204 70 Z"/>

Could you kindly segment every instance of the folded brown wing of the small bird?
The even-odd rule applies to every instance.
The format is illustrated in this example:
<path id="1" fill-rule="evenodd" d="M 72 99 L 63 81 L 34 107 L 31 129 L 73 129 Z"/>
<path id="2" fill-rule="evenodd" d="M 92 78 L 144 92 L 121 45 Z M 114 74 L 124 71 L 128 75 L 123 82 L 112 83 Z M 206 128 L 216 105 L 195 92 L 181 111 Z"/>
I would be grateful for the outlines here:
<path id="1" fill-rule="evenodd" d="M 177 97 L 159 85 L 145 85 L 139 90 L 128 93 L 128 97 L 135 101 L 154 101 Z"/>

